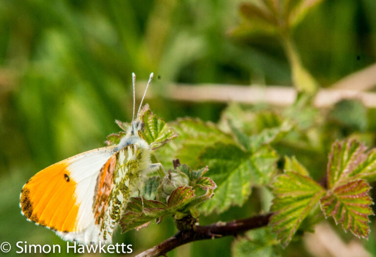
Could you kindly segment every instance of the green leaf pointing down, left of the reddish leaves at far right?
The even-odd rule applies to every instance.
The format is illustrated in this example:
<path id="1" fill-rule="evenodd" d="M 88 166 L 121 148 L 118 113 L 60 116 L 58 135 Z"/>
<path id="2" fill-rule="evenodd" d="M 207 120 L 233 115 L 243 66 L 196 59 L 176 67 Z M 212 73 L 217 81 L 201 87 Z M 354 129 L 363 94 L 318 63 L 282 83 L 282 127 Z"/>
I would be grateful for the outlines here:
<path id="1" fill-rule="evenodd" d="M 279 175 L 272 187 L 275 198 L 270 224 L 286 247 L 305 217 L 318 206 L 325 190 L 310 177 L 294 171 Z"/>

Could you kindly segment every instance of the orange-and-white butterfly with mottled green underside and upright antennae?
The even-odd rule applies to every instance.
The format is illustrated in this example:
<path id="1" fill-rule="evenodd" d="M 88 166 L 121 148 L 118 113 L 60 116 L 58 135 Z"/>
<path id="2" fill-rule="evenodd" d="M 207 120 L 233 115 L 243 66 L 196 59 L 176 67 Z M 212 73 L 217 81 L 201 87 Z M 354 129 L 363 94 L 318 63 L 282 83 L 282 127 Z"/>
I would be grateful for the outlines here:
<path id="1" fill-rule="evenodd" d="M 151 147 L 141 138 L 140 110 L 116 146 L 87 151 L 39 171 L 24 185 L 21 213 L 27 220 L 53 230 L 64 240 L 82 244 L 111 243 L 121 211 L 141 181 L 162 164 L 150 161 Z M 162 167 L 163 168 L 163 167 Z"/>

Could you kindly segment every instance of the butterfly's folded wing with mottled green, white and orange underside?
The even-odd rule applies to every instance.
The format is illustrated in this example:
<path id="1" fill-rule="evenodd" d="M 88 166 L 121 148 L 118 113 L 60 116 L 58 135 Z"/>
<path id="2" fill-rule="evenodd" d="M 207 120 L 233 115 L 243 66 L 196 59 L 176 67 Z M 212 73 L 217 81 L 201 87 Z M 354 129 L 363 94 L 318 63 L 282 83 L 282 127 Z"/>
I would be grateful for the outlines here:
<path id="1" fill-rule="evenodd" d="M 120 149 L 101 168 L 93 205 L 100 240 L 111 240 L 121 210 L 150 171 L 150 151 L 149 145 L 139 138 Z"/>

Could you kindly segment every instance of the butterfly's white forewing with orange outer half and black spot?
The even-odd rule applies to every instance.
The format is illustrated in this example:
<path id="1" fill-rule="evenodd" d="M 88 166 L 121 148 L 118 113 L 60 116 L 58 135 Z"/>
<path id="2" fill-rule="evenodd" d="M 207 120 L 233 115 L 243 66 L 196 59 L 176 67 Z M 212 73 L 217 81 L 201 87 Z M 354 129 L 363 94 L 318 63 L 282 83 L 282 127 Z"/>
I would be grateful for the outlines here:
<path id="1" fill-rule="evenodd" d="M 22 214 L 66 240 L 97 241 L 99 228 L 93 215 L 96 180 L 115 152 L 115 146 L 98 148 L 41 170 L 21 191 Z"/>

